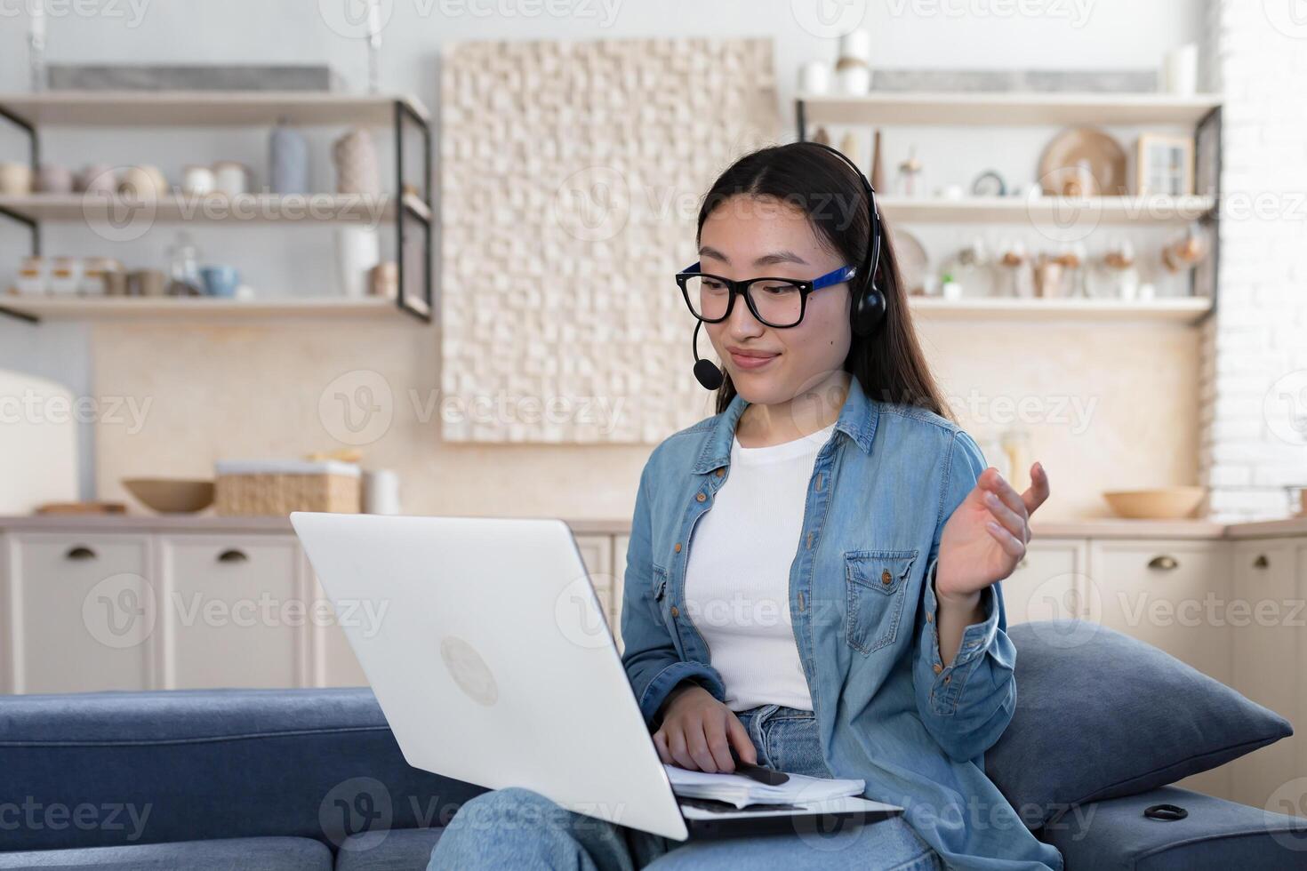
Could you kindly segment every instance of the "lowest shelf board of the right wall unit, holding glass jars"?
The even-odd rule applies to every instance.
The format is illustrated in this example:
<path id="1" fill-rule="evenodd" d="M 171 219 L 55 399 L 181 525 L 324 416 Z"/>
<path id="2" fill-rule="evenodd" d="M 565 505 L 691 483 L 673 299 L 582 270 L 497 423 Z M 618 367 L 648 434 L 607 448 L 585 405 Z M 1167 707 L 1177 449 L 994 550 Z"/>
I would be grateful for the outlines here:
<path id="1" fill-rule="evenodd" d="M 1016 299 L 978 296 L 944 299 L 941 296 L 908 296 L 912 313 L 925 320 L 1077 320 L 1197 324 L 1212 311 L 1205 296 L 1168 296 L 1157 299 Z"/>

